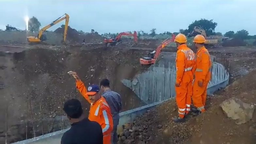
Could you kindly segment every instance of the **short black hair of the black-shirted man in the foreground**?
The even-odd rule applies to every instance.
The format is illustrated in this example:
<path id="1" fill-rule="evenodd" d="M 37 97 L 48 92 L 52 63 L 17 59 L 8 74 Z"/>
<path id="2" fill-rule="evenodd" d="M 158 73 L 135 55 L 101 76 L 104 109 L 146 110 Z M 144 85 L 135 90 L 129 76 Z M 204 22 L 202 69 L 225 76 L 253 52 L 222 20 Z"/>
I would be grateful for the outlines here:
<path id="1" fill-rule="evenodd" d="M 71 99 L 65 102 L 63 110 L 68 115 L 68 117 L 73 119 L 78 119 L 83 114 L 82 105 L 77 99 Z"/>

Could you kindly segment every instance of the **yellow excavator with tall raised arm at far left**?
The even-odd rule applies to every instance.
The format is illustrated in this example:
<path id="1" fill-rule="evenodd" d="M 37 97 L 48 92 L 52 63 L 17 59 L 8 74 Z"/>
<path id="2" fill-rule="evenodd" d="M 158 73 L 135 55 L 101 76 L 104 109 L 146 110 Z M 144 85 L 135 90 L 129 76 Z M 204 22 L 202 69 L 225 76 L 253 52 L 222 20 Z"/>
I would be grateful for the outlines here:
<path id="1" fill-rule="evenodd" d="M 52 27 L 53 25 L 55 25 L 55 24 L 61 22 L 62 20 L 66 19 L 65 29 L 64 29 L 64 40 L 63 40 L 64 42 L 66 42 L 66 37 L 67 37 L 67 32 L 68 32 L 68 25 L 69 25 L 69 15 L 66 14 L 66 13 L 64 15 L 61 16 L 62 18 L 59 17 L 55 21 L 53 21 L 51 24 L 48 24 L 45 27 L 43 27 L 42 29 L 40 29 L 37 37 L 33 37 L 33 36 L 27 37 L 27 41 L 29 43 L 42 43 L 43 41 L 47 40 L 47 38 L 43 34 L 43 32 L 46 31 L 48 28 Z"/>

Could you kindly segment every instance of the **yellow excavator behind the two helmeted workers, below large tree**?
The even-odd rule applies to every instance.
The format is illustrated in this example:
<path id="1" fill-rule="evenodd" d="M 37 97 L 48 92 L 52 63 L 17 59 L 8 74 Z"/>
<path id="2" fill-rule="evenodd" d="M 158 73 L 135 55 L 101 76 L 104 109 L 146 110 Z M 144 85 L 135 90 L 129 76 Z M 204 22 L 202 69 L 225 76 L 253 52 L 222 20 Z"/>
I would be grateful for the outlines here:
<path id="1" fill-rule="evenodd" d="M 192 33 L 191 33 L 190 35 L 192 35 L 192 34 L 195 33 L 195 32 L 198 32 L 198 33 L 200 33 L 202 36 L 205 37 L 205 40 L 206 40 L 206 41 L 205 41 L 205 46 L 206 46 L 206 47 L 216 47 L 216 45 L 218 44 L 218 38 L 216 38 L 215 36 L 214 36 L 214 37 L 212 37 L 212 36 L 207 37 L 206 32 L 205 32 L 204 29 L 202 29 L 202 28 L 200 28 L 200 27 L 198 27 L 198 26 L 195 26 L 195 27 L 194 27 L 194 30 L 192 31 Z"/>

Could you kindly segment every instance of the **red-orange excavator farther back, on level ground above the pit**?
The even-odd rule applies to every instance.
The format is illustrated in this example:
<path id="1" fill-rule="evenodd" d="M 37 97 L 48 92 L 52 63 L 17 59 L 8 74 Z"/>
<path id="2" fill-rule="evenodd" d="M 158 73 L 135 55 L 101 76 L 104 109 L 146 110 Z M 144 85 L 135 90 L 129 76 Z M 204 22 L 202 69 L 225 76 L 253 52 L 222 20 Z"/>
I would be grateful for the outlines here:
<path id="1" fill-rule="evenodd" d="M 121 40 L 121 37 L 122 36 L 132 36 L 133 37 L 133 40 L 135 43 L 138 42 L 138 37 L 137 37 L 137 32 L 134 31 L 134 33 L 130 33 L 130 32 L 122 32 L 122 33 L 119 33 L 118 36 L 115 36 L 115 38 L 106 38 L 104 39 L 104 43 L 107 45 L 108 43 L 110 45 L 116 45 L 118 43 L 120 43 L 120 40 Z"/>

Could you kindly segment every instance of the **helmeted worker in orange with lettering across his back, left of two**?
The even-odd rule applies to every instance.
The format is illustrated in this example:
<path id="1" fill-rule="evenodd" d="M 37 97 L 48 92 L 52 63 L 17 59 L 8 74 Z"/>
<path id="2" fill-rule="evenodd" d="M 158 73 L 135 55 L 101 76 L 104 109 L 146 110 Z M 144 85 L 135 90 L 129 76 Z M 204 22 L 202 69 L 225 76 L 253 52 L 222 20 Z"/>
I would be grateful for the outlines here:
<path id="1" fill-rule="evenodd" d="M 176 54 L 176 103 L 178 106 L 179 116 L 174 119 L 174 122 L 184 122 L 184 116 L 190 111 L 193 73 L 192 69 L 195 65 L 195 54 L 187 47 L 186 36 L 178 34 L 175 40 L 178 51 Z"/>

